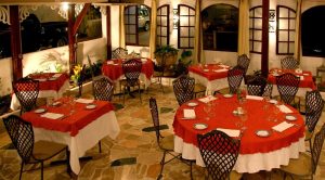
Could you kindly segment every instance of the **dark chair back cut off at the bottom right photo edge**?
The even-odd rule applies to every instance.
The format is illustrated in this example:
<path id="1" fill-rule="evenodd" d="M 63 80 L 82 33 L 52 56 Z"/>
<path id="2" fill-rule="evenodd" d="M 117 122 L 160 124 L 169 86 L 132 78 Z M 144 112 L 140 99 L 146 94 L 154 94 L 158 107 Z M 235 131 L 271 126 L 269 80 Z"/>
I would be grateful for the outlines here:
<path id="1" fill-rule="evenodd" d="M 323 124 L 322 129 L 315 134 L 314 143 L 311 149 L 312 155 L 312 172 L 315 173 L 320 156 L 322 153 L 322 147 L 325 139 L 325 124 Z"/>

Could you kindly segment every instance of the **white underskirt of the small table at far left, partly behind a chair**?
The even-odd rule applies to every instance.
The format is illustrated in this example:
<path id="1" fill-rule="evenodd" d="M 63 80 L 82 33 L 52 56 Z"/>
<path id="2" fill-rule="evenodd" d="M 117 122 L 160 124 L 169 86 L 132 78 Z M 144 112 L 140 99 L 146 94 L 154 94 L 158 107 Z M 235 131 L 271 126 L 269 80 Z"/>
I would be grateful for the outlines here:
<path id="1" fill-rule="evenodd" d="M 58 91 L 55 90 L 40 90 L 38 93 L 38 98 L 50 98 L 53 97 L 54 100 L 62 98 L 63 93 L 69 88 L 69 80 L 66 80 Z M 18 110 L 21 107 L 21 103 L 16 97 L 16 94 L 12 95 L 10 108 Z"/>

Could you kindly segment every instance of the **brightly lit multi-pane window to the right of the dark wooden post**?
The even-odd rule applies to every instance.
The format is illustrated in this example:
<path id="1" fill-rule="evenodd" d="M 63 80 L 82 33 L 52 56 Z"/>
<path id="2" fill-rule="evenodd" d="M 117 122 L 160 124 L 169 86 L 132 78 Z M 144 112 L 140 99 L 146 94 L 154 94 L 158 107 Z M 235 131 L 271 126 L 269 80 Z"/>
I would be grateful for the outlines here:
<path id="1" fill-rule="evenodd" d="M 295 52 L 295 10 L 277 5 L 276 22 L 276 54 L 292 55 Z"/>

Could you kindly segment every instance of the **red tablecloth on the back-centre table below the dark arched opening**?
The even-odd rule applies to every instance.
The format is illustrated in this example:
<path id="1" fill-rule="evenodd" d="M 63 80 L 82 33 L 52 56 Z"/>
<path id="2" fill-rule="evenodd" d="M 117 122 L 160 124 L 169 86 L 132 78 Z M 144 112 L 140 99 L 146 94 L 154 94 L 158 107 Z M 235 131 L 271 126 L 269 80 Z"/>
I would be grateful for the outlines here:
<path id="1" fill-rule="evenodd" d="M 206 67 L 202 67 L 199 65 L 192 65 L 188 67 L 188 70 L 200 76 L 206 77 L 208 80 L 221 79 L 227 76 L 227 70 L 225 72 L 214 72 L 218 69 L 222 69 L 223 67 L 217 64 L 208 64 Z M 208 69 L 208 70 L 205 70 Z"/>

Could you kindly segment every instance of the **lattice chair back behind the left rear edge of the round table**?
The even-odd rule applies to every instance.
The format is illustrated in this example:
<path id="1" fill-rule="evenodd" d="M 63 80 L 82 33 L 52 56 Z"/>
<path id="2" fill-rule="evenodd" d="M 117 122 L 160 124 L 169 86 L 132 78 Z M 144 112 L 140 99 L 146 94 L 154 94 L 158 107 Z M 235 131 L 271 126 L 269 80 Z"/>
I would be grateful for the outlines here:
<path id="1" fill-rule="evenodd" d="M 172 87 L 179 105 L 182 105 L 194 98 L 194 78 L 187 75 L 181 75 L 172 81 Z"/>

